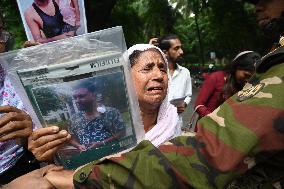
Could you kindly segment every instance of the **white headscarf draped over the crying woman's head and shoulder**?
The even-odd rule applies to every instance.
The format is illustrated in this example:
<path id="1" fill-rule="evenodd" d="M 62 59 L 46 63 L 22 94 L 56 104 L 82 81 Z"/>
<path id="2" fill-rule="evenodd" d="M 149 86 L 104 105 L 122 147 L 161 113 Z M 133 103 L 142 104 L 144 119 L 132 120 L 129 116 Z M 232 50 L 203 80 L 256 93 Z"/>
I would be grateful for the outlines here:
<path id="1" fill-rule="evenodd" d="M 169 77 L 168 61 L 162 52 L 156 46 L 150 44 L 137 44 L 128 49 L 128 56 L 130 56 L 134 51 L 146 51 L 148 49 L 157 49 L 167 65 L 168 73 L 168 85 L 171 82 Z M 167 96 L 163 100 L 158 113 L 157 123 L 151 130 L 145 134 L 145 139 L 151 141 L 155 146 L 176 137 L 181 134 L 181 126 L 179 123 L 179 116 L 177 113 L 177 108 L 168 102 Z"/>

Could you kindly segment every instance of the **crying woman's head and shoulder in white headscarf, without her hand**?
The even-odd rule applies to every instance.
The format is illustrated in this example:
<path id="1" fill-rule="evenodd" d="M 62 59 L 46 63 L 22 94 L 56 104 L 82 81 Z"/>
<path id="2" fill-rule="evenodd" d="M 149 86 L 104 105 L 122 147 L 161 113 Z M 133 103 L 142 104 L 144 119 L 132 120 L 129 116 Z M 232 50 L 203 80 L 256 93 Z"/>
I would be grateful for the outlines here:
<path id="1" fill-rule="evenodd" d="M 168 67 L 162 51 L 149 44 L 128 50 L 145 139 L 155 146 L 181 134 L 176 107 L 167 100 Z"/>

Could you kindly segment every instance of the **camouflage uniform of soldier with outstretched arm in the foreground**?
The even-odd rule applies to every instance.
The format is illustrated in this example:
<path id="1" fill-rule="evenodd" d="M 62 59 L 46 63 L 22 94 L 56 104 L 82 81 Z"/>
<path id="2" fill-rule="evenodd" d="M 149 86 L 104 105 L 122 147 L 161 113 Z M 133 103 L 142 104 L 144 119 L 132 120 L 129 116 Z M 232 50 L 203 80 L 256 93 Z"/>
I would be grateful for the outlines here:
<path id="1" fill-rule="evenodd" d="M 199 121 L 195 137 L 184 133 L 159 148 L 143 141 L 92 162 L 76 171 L 75 187 L 214 189 L 254 166 L 275 163 L 283 170 L 277 158 L 284 151 L 283 79 L 281 47 L 262 59 L 250 84 Z"/>

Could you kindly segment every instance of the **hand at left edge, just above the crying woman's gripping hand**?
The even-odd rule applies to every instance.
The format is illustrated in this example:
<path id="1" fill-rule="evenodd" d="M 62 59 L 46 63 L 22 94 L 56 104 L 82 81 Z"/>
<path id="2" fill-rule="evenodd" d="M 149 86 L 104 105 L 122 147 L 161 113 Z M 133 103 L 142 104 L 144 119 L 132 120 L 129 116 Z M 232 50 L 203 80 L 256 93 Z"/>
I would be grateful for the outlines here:
<path id="1" fill-rule="evenodd" d="M 0 142 L 30 136 L 33 124 L 26 112 L 12 106 L 1 106 L 0 113 L 4 113 L 0 117 Z"/>

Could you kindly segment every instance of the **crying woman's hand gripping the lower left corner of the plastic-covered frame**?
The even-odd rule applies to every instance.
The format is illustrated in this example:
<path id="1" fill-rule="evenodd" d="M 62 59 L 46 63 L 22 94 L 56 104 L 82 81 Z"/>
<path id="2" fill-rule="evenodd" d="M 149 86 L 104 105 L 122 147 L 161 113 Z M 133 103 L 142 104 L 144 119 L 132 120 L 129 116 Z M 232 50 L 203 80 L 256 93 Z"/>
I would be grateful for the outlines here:
<path id="1" fill-rule="evenodd" d="M 52 161 L 54 154 L 71 135 L 56 126 L 35 130 L 28 141 L 28 149 L 39 161 Z"/>

